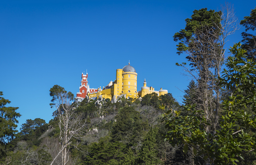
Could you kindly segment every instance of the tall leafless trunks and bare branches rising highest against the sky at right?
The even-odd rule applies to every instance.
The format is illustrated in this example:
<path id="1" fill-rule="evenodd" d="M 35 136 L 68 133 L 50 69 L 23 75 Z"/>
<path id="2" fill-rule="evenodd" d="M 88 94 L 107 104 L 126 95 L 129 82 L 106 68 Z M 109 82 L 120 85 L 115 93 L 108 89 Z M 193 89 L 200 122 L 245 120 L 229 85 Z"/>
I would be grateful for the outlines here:
<path id="1" fill-rule="evenodd" d="M 202 108 L 204 117 L 211 124 L 206 125 L 207 132 L 216 133 L 218 125 L 218 113 L 220 111 L 220 87 L 219 78 L 222 65 L 224 64 L 224 45 L 227 37 L 239 28 L 239 22 L 234 14 L 233 6 L 226 4 L 222 7 L 220 18 L 221 24 L 208 27 L 203 26 L 196 29 L 195 40 L 188 43 L 189 60 L 193 64 L 192 69 L 185 67 L 185 70 L 197 80 L 197 108 Z"/>

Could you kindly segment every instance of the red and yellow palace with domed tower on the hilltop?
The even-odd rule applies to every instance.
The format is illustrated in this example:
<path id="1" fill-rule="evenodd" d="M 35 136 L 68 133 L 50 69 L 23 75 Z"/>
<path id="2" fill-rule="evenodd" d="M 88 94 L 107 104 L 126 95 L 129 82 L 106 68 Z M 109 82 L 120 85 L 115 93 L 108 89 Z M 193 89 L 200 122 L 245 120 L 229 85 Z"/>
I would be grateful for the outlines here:
<path id="1" fill-rule="evenodd" d="M 110 81 L 106 87 L 103 87 L 103 89 L 101 89 L 101 87 L 96 89 L 89 87 L 88 73 L 82 73 L 81 85 L 79 87 L 79 92 L 76 93 L 76 100 L 81 102 L 87 95 L 92 99 L 99 99 L 99 96 L 101 95 L 102 98 L 111 100 L 113 97 L 117 98 L 117 96 L 122 94 L 125 94 L 127 99 L 137 99 L 153 92 L 158 95 L 168 93 L 167 90 L 162 88 L 159 91 L 155 91 L 155 88 L 147 87 L 146 79 L 144 80 L 143 87 L 141 87 L 141 91 L 137 91 L 137 76 L 138 74 L 134 67 L 130 66 L 130 63 L 128 63 L 123 69 L 116 70 L 116 80 L 114 82 Z"/>

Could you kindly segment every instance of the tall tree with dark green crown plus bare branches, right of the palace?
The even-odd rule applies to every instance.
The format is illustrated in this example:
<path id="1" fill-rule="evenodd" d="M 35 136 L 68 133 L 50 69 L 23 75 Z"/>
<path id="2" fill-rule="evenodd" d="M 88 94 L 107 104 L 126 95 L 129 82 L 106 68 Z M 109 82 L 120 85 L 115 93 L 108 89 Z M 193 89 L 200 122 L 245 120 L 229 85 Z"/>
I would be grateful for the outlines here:
<path id="1" fill-rule="evenodd" d="M 197 107 L 201 109 L 210 125 L 206 125 L 207 132 L 216 132 L 218 113 L 220 111 L 219 82 L 221 67 L 224 64 L 224 45 L 227 36 L 233 34 L 237 26 L 237 19 L 233 7 L 226 4 L 219 12 L 203 8 L 194 10 L 191 19 L 186 19 L 186 27 L 175 33 L 174 41 L 178 54 L 186 53 L 190 66 L 186 63 L 176 64 L 184 69 L 196 80 Z"/>

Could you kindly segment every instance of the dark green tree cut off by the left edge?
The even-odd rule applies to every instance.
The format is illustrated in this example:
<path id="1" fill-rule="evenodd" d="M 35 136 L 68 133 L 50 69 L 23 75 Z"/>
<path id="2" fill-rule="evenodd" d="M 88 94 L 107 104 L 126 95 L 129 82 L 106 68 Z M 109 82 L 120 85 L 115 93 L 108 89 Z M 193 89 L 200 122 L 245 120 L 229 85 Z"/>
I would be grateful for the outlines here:
<path id="1" fill-rule="evenodd" d="M 16 110 L 18 107 L 6 107 L 11 101 L 2 98 L 3 92 L 0 92 L 0 159 L 5 153 L 5 144 L 11 141 L 18 130 L 16 130 L 17 118 L 20 113 Z"/>

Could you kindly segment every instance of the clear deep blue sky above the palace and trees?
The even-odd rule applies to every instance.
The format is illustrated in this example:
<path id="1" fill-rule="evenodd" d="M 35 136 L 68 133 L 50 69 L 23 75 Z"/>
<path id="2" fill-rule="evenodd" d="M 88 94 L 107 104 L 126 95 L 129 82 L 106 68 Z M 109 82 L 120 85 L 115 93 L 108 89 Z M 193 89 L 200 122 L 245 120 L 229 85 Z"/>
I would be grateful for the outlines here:
<path id="1" fill-rule="evenodd" d="M 220 9 L 224 0 L 23 0 L 0 2 L 0 91 L 27 119 L 52 119 L 49 89 L 55 84 L 76 95 L 81 73 L 90 88 L 115 80 L 116 69 L 130 65 L 138 73 L 138 90 L 161 87 L 181 103 L 190 79 L 175 63 L 174 33 L 185 27 L 193 10 Z M 233 0 L 239 20 L 249 16 L 255 0 Z M 241 41 L 244 28 L 227 47 Z M 228 55 L 228 53 L 227 53 Z"/>

